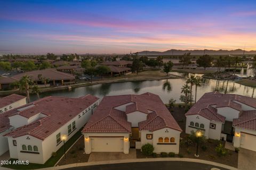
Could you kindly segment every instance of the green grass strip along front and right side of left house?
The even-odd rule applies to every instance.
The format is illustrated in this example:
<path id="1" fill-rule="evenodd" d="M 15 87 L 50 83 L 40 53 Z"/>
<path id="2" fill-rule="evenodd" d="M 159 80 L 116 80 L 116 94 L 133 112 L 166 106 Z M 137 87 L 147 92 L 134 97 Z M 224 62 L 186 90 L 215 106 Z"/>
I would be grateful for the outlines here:
<path id="1" fill-rule="evenodd" d="M 69 139 L 65 145 L 66 145 L 66 150 L 68 150 L 68 148 L 71 147 L 71 145 L 82 135 L 81 133 L 82 128 L 79 129 L 79 131 L 77 133 L 75 133 L 71 139 Z M 3 167 L 6 168 L 12 168 L 12 169 L 39 169 L 39 168 L 46 168 L 46 167 L 52 167 L 54 166 L 57 161 L 62 157 L 62 155 L 64 154 L 64 148 L 63 146 L 57 151 L 57 155 L 55 157 L 51 157 L 50 159 L 48 159 L 46 161 L 45 164 L 33 164 L 33 163 L 29 163 L 28 165 L 3 165 Z M 17 160 L 17 159 L 10 159 L 11 161 L 13 160 Z"/>

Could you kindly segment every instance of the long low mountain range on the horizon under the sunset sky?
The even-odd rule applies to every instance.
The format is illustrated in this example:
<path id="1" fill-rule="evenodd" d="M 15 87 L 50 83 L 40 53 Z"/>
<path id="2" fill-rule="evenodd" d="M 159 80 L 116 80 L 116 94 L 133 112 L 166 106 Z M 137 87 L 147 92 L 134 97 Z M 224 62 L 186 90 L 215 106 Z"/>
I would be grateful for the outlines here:
<path id="1" fill-rule="evenodd" d="M 167 50 L 164 52 L 159 51 L 141 51 L 138 55 L 183 55 L 184 53 L 191 53 L 191 55 L 203 55 L 204 50 Z M 256 54 L 256 51 L 243 51 L 237 50 L 205 50 L 205 54 L 209 55 L 243 55 L 243 54 Z"/>

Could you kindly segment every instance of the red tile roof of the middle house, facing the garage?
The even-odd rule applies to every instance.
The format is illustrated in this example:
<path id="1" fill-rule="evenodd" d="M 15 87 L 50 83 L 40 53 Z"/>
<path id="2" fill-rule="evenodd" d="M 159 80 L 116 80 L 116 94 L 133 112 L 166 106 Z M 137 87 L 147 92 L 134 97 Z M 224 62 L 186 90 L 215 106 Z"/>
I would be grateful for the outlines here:
<path id="1" fill-rule="evenodd" d="M 132 104 L 126 106 L 125 111 L 115 109 L 127 103 Z M 148 116 L 147 120 L 139 123 L 140 130 L 156 131 L 160 128 L 169 127 L 182 131 L 159 96 L 145 93 L 141 95 L 105 96 L 82 132 L 131 133 L 131 123 L 127 122 L 126 114 L 142 110 Z M 153 112 L 148 113 L 148 110 Z"/>

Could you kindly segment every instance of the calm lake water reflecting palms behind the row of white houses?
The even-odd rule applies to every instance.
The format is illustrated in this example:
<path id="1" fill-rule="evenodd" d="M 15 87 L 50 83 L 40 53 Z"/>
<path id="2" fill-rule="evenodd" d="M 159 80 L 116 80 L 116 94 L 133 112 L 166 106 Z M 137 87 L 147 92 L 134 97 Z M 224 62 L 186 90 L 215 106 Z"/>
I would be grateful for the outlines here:
<path id="1" fill-rule="evenodd" d="M 180 79 L 169 80 L 147 80 L 138 82 L 124 82 L 124 83 L 108 83 L 98 84 L 85 87 L 77 87 L 72 90 L 62 90 L 55 92 L 45 92 L 40 97 L 55 95 L 55 96 L 70 96 L 79 97 L 86 94 L 92 94 L 102 98 L 105 95 L 120 95 L 120 94 L 141 94 L 151 92 L 158 94 L 161 99 L 168 103 L 170 98 L 174 98 L 177 102 L 180 101 L 181 86 L 185 84 L 187 74 L 180 74 L 178 72 L 172 72 L 171 74 L 180 75 Z M 196 76 L 202 76 L 201 74 L 195 74 Z M 203 85 L 197 88 L 197 100 L 206 92 L 213 92 L 217 89 L 222 93 L 236 93 L 245 96 L 252 97 L 253 88 L 240 85 L 231 80 L 212 80 L 204 79 Z M 193 95 L 195 94 L 195 86 L 193 87 Z M 256 98 L 256 89 L 253 95 Z M 36 96 L 31 94 L 31 101 L 36 100 Z"/>

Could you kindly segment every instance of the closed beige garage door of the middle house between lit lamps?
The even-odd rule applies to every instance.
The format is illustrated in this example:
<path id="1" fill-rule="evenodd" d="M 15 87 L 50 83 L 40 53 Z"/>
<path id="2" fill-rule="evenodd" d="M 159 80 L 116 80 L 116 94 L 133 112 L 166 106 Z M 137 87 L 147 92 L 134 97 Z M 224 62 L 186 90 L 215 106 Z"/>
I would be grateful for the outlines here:
<path id="1" fill-rule="evenodd" d="M 123 152 L 123 137 L 92 137 L 92 152 Z"/>

